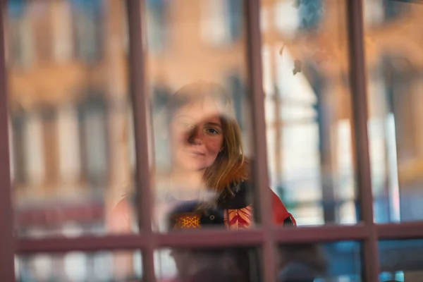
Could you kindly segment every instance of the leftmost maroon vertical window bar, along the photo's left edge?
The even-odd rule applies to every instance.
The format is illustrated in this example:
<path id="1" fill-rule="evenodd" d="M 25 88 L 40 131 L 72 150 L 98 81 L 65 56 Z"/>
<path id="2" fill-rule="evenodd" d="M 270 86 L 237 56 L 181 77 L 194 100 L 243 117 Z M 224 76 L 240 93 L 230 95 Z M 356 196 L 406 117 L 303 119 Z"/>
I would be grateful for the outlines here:
<path id="1" fill-rule="evenodd" d="M 15 281 L 11 173 L 8 152 L 8 97 L 4 52 L 6 1 L 0 0 L 0 277 Z"/>

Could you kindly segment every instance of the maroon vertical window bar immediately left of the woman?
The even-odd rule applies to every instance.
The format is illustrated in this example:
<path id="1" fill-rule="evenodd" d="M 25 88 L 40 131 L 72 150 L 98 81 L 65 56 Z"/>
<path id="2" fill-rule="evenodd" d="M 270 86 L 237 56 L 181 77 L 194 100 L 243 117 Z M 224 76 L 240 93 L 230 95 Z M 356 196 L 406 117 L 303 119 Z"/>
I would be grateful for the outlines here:
<path id="1" fill-rule="evenodd" d="M 142 0 L 128 0 L 130 91 L 133 99 L 137 216 L 140 232 L 148 241 L 142 249 L 142 281 L 156 281 L 155 241 L 152 233 L 152 192 L 149 171 L 148 95 L 145 87 L 145 50 L 142 34 Z"/>

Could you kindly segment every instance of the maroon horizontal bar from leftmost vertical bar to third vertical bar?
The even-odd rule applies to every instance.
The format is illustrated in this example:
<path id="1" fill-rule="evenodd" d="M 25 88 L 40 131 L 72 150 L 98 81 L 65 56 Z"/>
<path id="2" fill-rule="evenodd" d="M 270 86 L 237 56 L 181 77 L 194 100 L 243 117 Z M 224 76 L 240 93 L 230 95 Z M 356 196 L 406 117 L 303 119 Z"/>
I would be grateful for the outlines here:
<path id="1" fill-rule="evenodd" d="M 262 245 L 261 230 L 228 232 L 222 230 L 188 231 L 174 233 L 83 236 L 79 238 L 51 237 L 20 239 L 16 244 L 18 254 L 35 252 L 70 252 L 94 250 L 130 250 L 149 247 L 229 247 Z"/>

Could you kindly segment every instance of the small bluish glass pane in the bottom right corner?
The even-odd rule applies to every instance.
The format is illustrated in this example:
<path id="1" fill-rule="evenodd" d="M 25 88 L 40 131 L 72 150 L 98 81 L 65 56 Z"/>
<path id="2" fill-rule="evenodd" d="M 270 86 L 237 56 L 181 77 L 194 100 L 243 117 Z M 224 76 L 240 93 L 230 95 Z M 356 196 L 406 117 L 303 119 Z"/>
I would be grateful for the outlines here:
<path id="1" fill-rule="evenodd" d="M 380 281 L 422 281 L 423 240 L 379 242 Z"/>

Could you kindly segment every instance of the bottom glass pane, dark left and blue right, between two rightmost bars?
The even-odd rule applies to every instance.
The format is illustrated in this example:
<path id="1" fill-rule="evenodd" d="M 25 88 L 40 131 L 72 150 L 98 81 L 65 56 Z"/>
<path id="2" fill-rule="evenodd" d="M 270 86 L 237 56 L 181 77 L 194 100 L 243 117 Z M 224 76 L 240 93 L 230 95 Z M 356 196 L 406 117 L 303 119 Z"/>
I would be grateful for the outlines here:
<path id="1" fill-rule="evenodd" d="M 360 282 L 362 250 L 357 242 L 279 246 L 278 282 Z"/>

